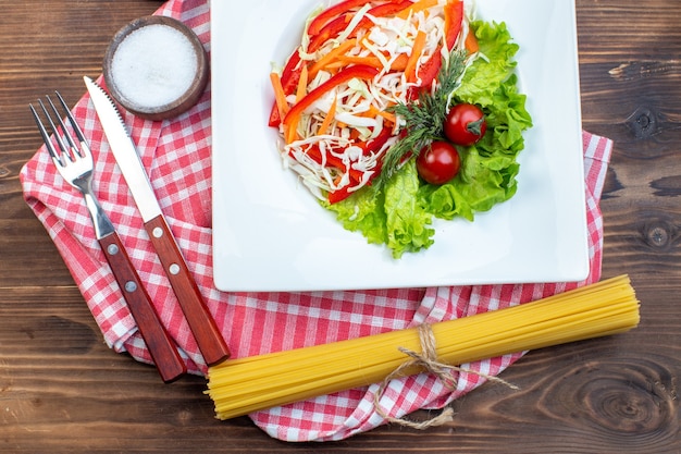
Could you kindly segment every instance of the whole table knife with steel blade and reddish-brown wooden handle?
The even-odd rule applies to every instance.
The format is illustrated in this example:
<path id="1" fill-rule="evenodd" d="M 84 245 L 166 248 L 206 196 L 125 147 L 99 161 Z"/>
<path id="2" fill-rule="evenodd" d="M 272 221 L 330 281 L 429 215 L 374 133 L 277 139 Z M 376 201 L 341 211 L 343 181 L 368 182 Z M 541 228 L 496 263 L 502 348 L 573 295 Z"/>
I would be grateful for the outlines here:
<path id="1" fill-rule="evenodd" d="M 104 135 L 141 214 L 145 230 L 177 296 L 179 307 L 208 366 L 230 356 L 230 349 L 171 232 L 144 169 L 137 148 L 107 91 L 83 77 Z"/>

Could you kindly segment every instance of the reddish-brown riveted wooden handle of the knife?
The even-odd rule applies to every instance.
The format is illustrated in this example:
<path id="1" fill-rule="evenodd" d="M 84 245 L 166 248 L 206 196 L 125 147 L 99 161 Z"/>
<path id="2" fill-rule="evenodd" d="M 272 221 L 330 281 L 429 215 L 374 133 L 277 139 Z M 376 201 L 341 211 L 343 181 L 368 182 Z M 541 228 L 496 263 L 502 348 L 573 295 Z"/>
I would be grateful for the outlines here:
<path id="1" fill-rule="evenodd" d="M 203 360 L 208 366 L 213 366 L 228 358 L 227 344 L 203 302 L 165 219 L 162 214 L 146 222 L 145 229 L 177 296 Z"/>

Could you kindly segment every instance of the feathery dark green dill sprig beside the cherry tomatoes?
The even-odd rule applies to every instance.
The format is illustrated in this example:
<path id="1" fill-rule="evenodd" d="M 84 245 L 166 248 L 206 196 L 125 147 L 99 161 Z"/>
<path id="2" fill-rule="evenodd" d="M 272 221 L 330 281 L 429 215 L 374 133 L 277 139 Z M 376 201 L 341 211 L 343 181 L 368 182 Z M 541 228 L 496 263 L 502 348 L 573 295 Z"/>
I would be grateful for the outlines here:
<path id="1" fill-rule="evenodd" d="M 395 172 L 409 159 L 444 137 L 443 124 L 447 119 L 447 106 L 454 90 L 459 86 L 466 71 L 466 51 L 451 51 L 437 73 L 437 84 L 431 91 L 421 91 L 416 101 L 398 103 L 389 109 L 405 121 L 403 136 L 386 151 L 381 174 L 374 185 L 381 189 Z"/>

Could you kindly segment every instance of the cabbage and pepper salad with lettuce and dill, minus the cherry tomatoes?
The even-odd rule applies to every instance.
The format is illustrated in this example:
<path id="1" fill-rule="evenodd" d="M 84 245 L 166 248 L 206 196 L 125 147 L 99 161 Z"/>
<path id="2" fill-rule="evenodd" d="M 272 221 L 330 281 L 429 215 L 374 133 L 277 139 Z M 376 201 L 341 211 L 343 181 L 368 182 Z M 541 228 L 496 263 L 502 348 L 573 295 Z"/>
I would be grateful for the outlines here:
<path id="1" fill-rule="evenodd" d="M 516 192 L 532 124 L 513 74 L 518 46 L 505 24 L 478 21 L 473 9 L 468 0 L 345 0 L 314 11 L 270 74 L 269 124 L 285 165 L 346 229 L 396 258 L 433 244 L 434 217 L 473 220 Z M 484 115 L 478 137 L 445 144 L 447 114 L 462 103 Z M 445 145 L 457 167 L 428 183 L 414 158 Z"/>

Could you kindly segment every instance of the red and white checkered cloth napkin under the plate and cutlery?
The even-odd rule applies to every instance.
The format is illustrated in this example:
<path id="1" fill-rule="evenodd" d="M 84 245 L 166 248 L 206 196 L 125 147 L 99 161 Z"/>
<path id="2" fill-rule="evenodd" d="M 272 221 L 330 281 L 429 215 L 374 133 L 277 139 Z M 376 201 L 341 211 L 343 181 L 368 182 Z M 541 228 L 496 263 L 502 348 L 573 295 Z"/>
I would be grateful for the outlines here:
<path id="1" fill-rule="evenodd" d="M 171 0 L 159 11 L 193 27 L 209 48 L 207 1 Z M 189 112 L 171 121 L 150 122 L 124 113 L 161 208 L 234 357 L 258 355 L 376 334 L 494 310 L 579 285 L 600 274 L 603 223 L 598 209 L 610 156 L 609 139 L 584 133 L 586 206 L 591 274 L 585 282 L 533 285 L 476 285 L 433 289 L 317 293 L 221 293 L 212 281 L 210 90 Z M 143 222 L 92 105 L 85 96 L 73 110 L 94 150 L 94 188 L 139 270 L 162 320 L 182 349 L 188 368 L 207 371 L 196 342 L 154 255 Z M 40 148 L 21 173 L 27 204 L 45 224 L 78 284 L 106 342 L 140 361 L 150 356 L 95 240 L 82 197 L 59 176 Z M 463 365 L 495 376 L 521 354 Z M 454 392 L 422 373 L 395 379 L 381 406 L 392 417 L 418 408 L 441 408 L 484 380 L 462 372 Z M 258 412 L 253 421 L 270 435 L 287 441 L 339 440 L 384 422 L 374 410 L 377 385 L 320 396 Z"/>

